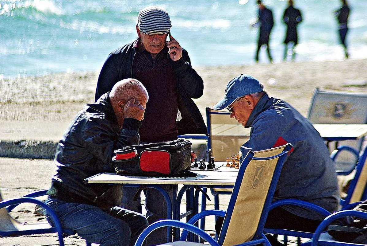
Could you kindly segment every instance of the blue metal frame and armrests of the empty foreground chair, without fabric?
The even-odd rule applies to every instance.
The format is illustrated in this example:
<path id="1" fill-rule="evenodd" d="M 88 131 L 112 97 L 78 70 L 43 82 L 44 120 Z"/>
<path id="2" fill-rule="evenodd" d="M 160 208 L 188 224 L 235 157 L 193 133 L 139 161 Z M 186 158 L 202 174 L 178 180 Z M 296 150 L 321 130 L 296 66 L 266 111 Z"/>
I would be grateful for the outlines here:
<path id="1" fill-rule="evenodd" d="M 261 216 L 260 216 L 260 219 L 259 219 L 259 223 L 257 225 L 255 235 L 254 235 L 254 237 L 251 241 L 239 244 L 241 246 L 247 246 L 247 245 L 256 245 L 256 244 L 259 244 L 259 243 L 263 243 L 267 246 L 270 246 L 270 243 L 269 243 L 268 239 L 266 239 L 266 237 L 265 237 L 264 233 L 262 233 L 262 231 L 264 229 L 266 217 L 267 217 L 268 212 L 269 212 L 270 204 L 271 204 L 274 192 L 275 192 L 275 188 L 276 188 L 276 184 L 278 182 L 278 178 L 279 178 L 279 175 L 280 175 L 281 168 L 282 168 L 283 163 L 284 163 L 284 161 L 287 157 L 287 153 L 290 151 L 291 147 L 292 147 L 292 145 L 287 144 L 287 146 L 284 148 L 284 150 L 280 154 L 277 154 L 276 156 L 272 156 L 272 157 L 263 157 L 263 158 L 254 157 L 254 152 L 249 151 L 247 153 L 247 155 L 244 158 L 244 160 L 241 164 L 241 167 L 239 169 L 239 174 L 237 176 L 237 179 L 236 179 L 236 182 L 235 182 L 235 185 L 234 185 L 234 188 L 233 188 L 233 192 L 232 192 L 232 196 L 230 198 L 230 202 L 229 202 L 227 212 L 220 211 L 220 210 L 203 211 L 199 214 L 196 214 L 187 223 L 184 223 L 184 222 L 181 222 L 181 221 L 174 221 L 174 220 L 157 221 L 157 222 L 149 225 L 149 227 L 146 228 L 141 233 L 141 235 L 137 239 L 137 242 L 135 243 L 135 246 L 141 246 L 143 244 L 145 238 L 149 235 L 150 232 L 154 231 L 157 228 L 166 227 L 166 226 L 183 228 L 184 231 L 182 232 L 181 237 L 180 237 L 181 241 L 186 239 L 186 237 L 188 235 L 188 232 L 192 232 L 192 233 L 198 235 L 199 237 L 201 237 L 202 239 L 206 240 L 212 246 L 223 245 L 224 240 L 225 240 L 225 235 L 227 233 L 227 229 L 228 229 L 228 226 L 229 226 L 229 221 L 232 217 L 233 208 L 234 208 L 236 200 L 237 200 L 237 196 L 238 196 L 238 193 L 239 193 L 239 190 L 240 190 L 241 182 L 243 180 L 243 176 L 244 176 L 247 165 L 250 163 L 251 160 L 270 160 L 270 159 L 279 157 L 279 159 L 277 160 L 275 171 L 273 173 L 272 181 L 270 182 L 269 190 L 268 190 L 268 193 L 266 195 L 266 199 L 265 199 L 265 202 L 264 202 L 264 207 L 262 209 L 262 213 L 261 213 Z M 207 215 L 216 215 L 216 216 L 224 216 L 225 215 L 225 220 L 224 220 L 224 223 L 223 223 L 223 227 L 222 227 L 221 234 L 219 236 L 218 242 L 215 242 L 215 240 L 212 239 L 206 232 L 204 232 L 203 230 L 201 230 L 201 229 L 199 229 L 199 228 L 197 228 L 193 225 L 198 220 L 204 218 Z"/>

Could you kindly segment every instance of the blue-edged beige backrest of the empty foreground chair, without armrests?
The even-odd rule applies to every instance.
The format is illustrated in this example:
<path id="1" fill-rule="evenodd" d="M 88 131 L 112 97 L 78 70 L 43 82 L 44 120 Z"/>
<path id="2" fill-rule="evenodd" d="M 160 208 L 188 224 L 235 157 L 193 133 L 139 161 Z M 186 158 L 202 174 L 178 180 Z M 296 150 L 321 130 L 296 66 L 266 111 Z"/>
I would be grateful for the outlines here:
<path id="1" fill-rule="evenodd" d="M 261 237 L 280 170 L 291 147 L 287 144 L 248 152 L 230 197 L 219 245 L 237 245 Z"/>

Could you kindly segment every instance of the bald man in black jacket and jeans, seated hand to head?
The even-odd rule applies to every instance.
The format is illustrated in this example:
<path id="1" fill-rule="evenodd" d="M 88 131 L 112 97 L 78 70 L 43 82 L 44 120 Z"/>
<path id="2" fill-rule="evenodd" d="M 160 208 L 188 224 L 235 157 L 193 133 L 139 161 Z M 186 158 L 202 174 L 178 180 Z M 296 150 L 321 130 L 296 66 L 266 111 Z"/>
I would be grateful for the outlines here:
<path id="1" fill-rule="evenodd" d="M 63 228 L 87 242 L 132 246 L 148 226 L 142 214 L 117 207 L 120 185 L 83 183 L 92 175 L 113 171 L 114 150 L 139 143 L 147 101 L 148 92 L 136 79 L 117 82 L 111 92 L 79 111 L 59 141 L 47 204 Z"/>

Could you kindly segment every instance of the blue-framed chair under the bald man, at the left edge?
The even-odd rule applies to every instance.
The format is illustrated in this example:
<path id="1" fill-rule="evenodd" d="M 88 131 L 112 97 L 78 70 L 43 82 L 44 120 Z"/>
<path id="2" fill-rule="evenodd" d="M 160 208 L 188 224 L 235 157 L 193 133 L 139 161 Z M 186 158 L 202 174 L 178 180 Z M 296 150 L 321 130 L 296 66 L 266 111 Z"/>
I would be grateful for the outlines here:
<path id="1" fill-rule="evenodd" d="M 30 193 L 26 196 L 14 199 L 4 200 L 1 198 L 0 193 L 0 236 L 21 236 L 21 235 L 34 235 L 44 233 L 57 233 L 59 239 L 59 245 L 64 246 L 63 233 L 68 235 L 74 235 L 75 232 L 62 229 L 60 221 L 55 212 L 40 200 L 34 199 L 34 197 L 45 196 L 47 190 L 40 190 Z M 34 222 L 34 223 L 22 223 L 15 220 L 8 211 L 11 211 L 21 203 L 33 203 L 39 205 L 46 210 L 48 216 L 51 217 L 54 226 L 51 226 L 48 222 Z M 87 243 L 87 246 L 91 246 L 91 243 Z"/>

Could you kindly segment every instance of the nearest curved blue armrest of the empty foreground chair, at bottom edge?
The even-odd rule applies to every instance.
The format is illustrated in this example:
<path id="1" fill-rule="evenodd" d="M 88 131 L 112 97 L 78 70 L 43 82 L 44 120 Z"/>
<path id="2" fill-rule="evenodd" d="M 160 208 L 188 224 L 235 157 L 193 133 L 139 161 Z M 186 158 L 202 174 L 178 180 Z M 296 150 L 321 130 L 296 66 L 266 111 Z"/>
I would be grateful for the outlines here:
<path id="1" fill-rule="evenodd" d="M 139 235 L 139 237 L 138 237 L 138 239 L 137 239 L 137 241 L 135 243 L 135 246 L 142 246 L 144 240 L 149 235 L 149 233 L 152 232 L 152 231 L 154 231 L 155 229 L 161 228 L 161 227 L 177 227 L 177 228 L 183 228 L 186 231 L 195 233 L 200 238 L 206 240 L 210 245 L 212 245 L 212 246 L 219 246 L 218 243 L 215 242 L 215 240 L 212 239 L 211 236 L 208 235 L 203 230 L 195 227 L 194 225 L 187 224 L 185 222 L 181 222 L 181 221 L 178 221 L 178 220 L 160 220 L 160 221 L 154 222 L 153 224 L 149 225 L 149 227 L 145 228 L 144 231 Z M 180 238 L 180 240 L 181 240 L 181 238 Z"/>

